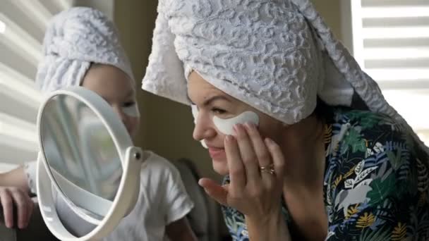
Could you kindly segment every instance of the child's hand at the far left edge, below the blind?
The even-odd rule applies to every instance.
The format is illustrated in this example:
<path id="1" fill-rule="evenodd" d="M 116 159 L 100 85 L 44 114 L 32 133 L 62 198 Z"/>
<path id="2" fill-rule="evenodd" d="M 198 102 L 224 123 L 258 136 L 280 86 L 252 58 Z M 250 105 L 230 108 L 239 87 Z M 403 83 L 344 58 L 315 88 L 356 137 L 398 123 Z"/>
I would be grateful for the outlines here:
<path id="1" fill-rule="evenodd" d="M 0 204 L 6 227 L 27 227 L 35 204 L 25 191 L 18 187 L 0 187 Z M 14 220 L 14 212 L 16 212 L 18 220 Z M 18 227 L 13 226 L 14 222 L 18 224 Z"/>

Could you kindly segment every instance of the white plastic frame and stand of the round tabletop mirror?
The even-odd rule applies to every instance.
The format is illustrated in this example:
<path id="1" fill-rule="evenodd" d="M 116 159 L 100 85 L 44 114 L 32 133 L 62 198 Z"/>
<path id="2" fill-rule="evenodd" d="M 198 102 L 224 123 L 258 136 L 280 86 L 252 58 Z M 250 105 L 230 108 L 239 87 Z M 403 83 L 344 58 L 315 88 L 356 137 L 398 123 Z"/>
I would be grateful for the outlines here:
<path id="1" fill-rule="evenodd" d="M 82 237 L 75 237 L 75 235 L 70 233 L 60 221 L 56 212 L 54 197 L 52 195 L 52 188 L 57 188 L 57 190 L 59 190 L 59 187 L 53 178 L 43 152 L 41 135 L 42 113 L 50 99 L 57 95 L 64 94 L 82 101 L 96 113 L 97 117 L 107 128 L 116 145 L 123 168 L 119 189 L 113 203 L 109 207 L 107 215 L 104 216 L 97 227 Z M 39 109 L 37 116 L 37 132 L 39 137 L 39 147 L 41 150 L 37 159 L 37 199 L 44 223 L 46 223 L 52 234 L 59 238 L 59 240 L 100 240 L 109 235 L 109 233 L 116 228 L 122 218 L 133 210 L 135 203 L 137 202 L 140 190 L 140 170 L 142 163 L 145 161 L 147 156 L 143 156 L 144 153 L 139 147 L 133 146 L 133 142 L 131 141 L 131 137 L 128 135 L 125 126 L 121 123 L 116 113 L 111 110 L 111 106 L 109 106 L 109 104 L 107 104 L 107 102 L 97 94 L 83 87 L 69 87 L 49 94 L 49 96 L 44 99 Z M 83 194 L 82 191 L 84 190 L 79 190 L 79 193 L 75 194 L 75 197 L 81 197 L 80 202 L 91 202 L 90 199 L 87 199 L 91 196 L 89 192 L 88 194 Z M 60 190 L 59 192 L 62 194 Z M 94 202 L 94 200 L 95 199 L 92 199 L 92 202 Z M 93 204 L 99 205 L 99 202 L 94 202 Z M 72 210 L 78 214 L 76 210 Z"/>

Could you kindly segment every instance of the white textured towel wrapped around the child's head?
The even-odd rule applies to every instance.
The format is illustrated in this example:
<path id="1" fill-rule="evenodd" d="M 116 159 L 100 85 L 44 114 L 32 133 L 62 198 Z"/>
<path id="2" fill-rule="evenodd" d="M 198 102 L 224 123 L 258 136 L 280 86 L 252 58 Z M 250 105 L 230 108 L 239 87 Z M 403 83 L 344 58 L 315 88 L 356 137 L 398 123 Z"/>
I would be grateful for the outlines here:
<path id="1" fill-rule="evenodd" d="M 91 63 L 115 66 L 132 80 L 118 31 L 104 13 L 86 7 L 63 11 L 49 23 L 36 84 L 42 92 L 80 85 Z"/>

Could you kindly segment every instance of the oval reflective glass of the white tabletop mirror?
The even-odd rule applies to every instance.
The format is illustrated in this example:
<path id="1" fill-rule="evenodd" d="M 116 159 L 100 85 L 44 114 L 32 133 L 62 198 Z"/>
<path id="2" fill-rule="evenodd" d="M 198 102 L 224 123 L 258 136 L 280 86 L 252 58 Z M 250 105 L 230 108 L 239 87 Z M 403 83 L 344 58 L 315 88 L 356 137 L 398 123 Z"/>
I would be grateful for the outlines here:
<path id="1" fill-rule="evenodd" d="M 66 202 L 101 221 L 123 173 L 109 130 L 85 103 L 60 94 L 45 106 L 40 132 L 49 170 Z"/>

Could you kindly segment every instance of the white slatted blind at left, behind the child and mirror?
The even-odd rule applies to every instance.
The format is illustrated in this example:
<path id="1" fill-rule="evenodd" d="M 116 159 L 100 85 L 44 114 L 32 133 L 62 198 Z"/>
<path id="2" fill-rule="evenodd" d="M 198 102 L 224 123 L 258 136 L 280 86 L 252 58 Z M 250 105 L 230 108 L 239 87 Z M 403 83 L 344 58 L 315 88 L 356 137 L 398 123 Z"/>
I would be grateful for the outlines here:
<path id="1" fill-rule="evenodd" d="M 55 13 L 72 0 L 0 1 L 0 172 L 37 158 L 35 88 L 42 39 Z"/>

